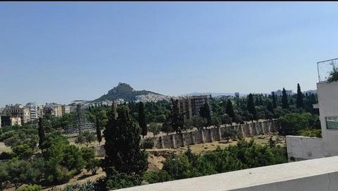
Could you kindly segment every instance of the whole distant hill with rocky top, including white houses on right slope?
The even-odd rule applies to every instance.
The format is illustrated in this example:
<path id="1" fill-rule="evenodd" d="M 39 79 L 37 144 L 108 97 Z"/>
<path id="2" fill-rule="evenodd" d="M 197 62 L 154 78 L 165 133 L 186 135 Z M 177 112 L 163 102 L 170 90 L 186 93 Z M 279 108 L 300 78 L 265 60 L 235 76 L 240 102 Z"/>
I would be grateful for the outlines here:
<path id="1" fill-rule="evenodd" d="M 118 83 L 118 86 L 109 90 L 108 94 L 104 94 L 103 96 L 99 97 L 99 99 L 95 99 L 94 102 L 106 100 L 115 101 L 120 99 L 123 99 L 124 101 L 148 101 L 148 97 L 150 101 L 153 97 L 154 99 L 161 99 L 161 97 L 163 97 L 163 99 L 166 98 L 166 96 L 156 92 L 151 92 L 148 90 L 134 90 L 134 88 L 132 88 L 130 85 L 120 82 Z"/>

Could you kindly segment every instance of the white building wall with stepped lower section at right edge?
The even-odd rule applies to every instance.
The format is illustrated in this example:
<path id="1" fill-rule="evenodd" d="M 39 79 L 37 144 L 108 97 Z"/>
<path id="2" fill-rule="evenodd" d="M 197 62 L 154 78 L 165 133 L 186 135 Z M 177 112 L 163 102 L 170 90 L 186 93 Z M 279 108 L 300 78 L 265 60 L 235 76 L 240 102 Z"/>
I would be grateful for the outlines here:
<path id="1" fill-rule="evenodd" d="M 320 126 L 323 138 L 287 136 L 289 159 L 317 159 L 338 155 L 338 130 L 327 130 L 325 117 L 338 116 L 338 82 L 317 83 Z"/>

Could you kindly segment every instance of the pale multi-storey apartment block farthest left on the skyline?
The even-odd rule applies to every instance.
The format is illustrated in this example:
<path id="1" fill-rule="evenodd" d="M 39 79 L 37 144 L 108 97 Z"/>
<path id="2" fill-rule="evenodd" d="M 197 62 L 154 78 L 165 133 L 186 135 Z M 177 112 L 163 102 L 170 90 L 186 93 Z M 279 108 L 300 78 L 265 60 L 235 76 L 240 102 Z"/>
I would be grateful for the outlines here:
<path id="1" fill-rule="evenodd" d="M 20 117 L 21 123 L 30 121 L 30 109 L 21 104 L 6 105 L 4 113 L 12 117 Z"/>

